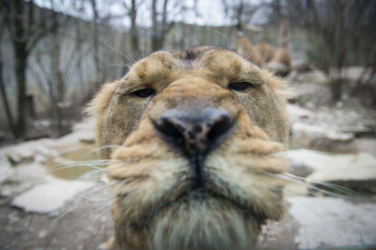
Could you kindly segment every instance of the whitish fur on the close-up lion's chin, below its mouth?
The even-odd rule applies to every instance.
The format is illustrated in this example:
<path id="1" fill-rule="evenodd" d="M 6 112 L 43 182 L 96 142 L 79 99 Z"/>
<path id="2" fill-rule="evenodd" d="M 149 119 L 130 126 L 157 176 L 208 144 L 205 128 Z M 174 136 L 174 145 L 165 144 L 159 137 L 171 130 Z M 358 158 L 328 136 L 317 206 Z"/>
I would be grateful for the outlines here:
<path id="1" fill-rule="evenodd" d="M 232 204 L 189 199 L 160 211 L 147 230 L 152 250 L 249 250 L 256 245 L 257 222 Z"/>

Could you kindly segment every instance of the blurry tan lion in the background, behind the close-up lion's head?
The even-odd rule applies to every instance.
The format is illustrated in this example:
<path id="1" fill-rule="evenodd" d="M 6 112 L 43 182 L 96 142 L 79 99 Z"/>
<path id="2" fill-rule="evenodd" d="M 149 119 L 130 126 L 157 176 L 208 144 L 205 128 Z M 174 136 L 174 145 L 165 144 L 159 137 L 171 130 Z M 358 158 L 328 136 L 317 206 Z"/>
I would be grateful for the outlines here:
<path id="1" fill-rule="evenodd" d="M 267 43 L 254 45 L 249 38 L 238 36 L 237 51 L 247 60 L 262 68 L 270 68 L 277 75 L 288 74 L 291 70 L 291 56 L 284 48 L 278 48 Z"/>

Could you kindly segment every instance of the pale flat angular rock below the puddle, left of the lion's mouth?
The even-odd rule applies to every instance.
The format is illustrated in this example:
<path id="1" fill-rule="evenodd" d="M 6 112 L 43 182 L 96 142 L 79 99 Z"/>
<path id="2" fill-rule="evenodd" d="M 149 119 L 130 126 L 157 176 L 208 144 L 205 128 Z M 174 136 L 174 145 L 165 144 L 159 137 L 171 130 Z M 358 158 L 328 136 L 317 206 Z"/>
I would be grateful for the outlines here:
<path id="1" fill-rule="evenodd" d="M 64 205 L 75 194 L 93 185 L 93 182 L 54 179 L 47 183 L 36 185 L 16 196 L 12 201 L 12 205 L 23 208 L 28 212 L 48 213 Z"/>

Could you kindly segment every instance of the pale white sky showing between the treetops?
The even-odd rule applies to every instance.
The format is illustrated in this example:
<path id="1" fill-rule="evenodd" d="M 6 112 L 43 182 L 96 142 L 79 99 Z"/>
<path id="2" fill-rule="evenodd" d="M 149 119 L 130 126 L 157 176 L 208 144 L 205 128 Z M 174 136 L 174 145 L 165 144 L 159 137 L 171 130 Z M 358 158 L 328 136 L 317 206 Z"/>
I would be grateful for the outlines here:
<path id="1" fill-rule="evenodd" d="M 34 0 L 35 3 L 41 7 L 45 8 L 52 8 L 51 7 L 51 0 Z M 53 0 L 55 2 L 61 2 L 61 0 Z M 118 3 L 116 0 L 97 0 L 98 1 L 98 10 L 101 17 L 105 17 L 108 15 L 115 15 L 115 16 L 123 16 L 113 19 L 111 23 L 115 26 L 119 27 L 129 27 L 130 20 L 129 17 L 125 15 L 124 8 Z M 222 0 L 185 0 L 185 6 L 188 7 L 188 11 L 185 11 L 184 14 L 171 11 L 176 10 L 173 8 L 173 3 L 178 2 L 179 0 L 169 0 L 168 9 L 168 22 L 184 22 L 190 24 L 198 24 L 198 25 L 211 25 L 211 26 L 225 26 L 231 25 L 231 20 L 226 17 L 223 7 L 222 7 Z M 231 0 L 229 0 L 231 1 Z M 249 0 L 251 3 L 259 3 L 261 0 Z M 83 11 L 78 13 L 77 11 L 73 11 L 70 8 L 70 5 L 61 5 L 56 4 L 54 9 L 59 12 L 63 12 L 65 14 L 69 14 L 75 17 L 80 17 L 82 19 L 91 20 L 93 18 L 93 11 L 90 5 L 90 0 L 87 1 L 78 1 L 78 0 L 71 0 L 73 4 L 77 5 L 78 7 L 82 5 Z M 128 0 L 130 2 L 130 0 Z M 151 26 L 151 2 L 152 0 L 136 0 L 136 2 L 140 3 L 140 7 L 138 9 L 138 16 L 137 16 L 137 24 L 143 27 Z M 157 11 L 163 9 L 163 2 L 164 0 L 157 1 Z M 182 2 L 182 1 L 180 1 Z M 193 9 L 196 10 L 193 11 Z M 196 13 L 198 15 L 196 15 Z"/>

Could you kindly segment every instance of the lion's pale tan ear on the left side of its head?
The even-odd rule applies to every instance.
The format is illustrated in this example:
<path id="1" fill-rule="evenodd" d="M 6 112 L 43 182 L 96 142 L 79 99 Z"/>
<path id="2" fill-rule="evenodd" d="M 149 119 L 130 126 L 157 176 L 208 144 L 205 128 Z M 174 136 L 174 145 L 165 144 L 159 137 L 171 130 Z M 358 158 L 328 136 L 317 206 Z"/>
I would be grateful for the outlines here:
<path id="1" fill-rule="evenodd" d="M 107 106 L 110 104 L 116 84 L 117 81 L 103 84 L 102 88 L 96 92 L 94 98 L 85 108 L 84 113 L 94 117 L 103 115 Z"/>

